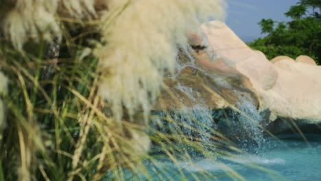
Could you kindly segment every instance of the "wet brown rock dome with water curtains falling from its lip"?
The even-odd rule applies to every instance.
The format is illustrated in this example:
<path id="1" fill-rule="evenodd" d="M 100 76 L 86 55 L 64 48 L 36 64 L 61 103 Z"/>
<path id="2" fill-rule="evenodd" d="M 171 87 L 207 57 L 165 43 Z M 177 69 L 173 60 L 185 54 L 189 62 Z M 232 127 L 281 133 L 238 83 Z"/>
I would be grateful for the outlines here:
<path id="1" fill-rule="evenodd" d="M 258 110 L 259 98 L 248 77 L 232 67 L 222 69 L 222 63 L 213 62 L 206 69 L 197 60 L 185 65 L 175 77 L 165 77 L 165 86 L 152 111 L 161 123 L 155 125 L 157 130 L 183 133 L 202 141 L 211 140 L 213 132 L 219 132 L 244 147 L 259 144 L 263 136 L 257 128 L 263 119 Z"/>

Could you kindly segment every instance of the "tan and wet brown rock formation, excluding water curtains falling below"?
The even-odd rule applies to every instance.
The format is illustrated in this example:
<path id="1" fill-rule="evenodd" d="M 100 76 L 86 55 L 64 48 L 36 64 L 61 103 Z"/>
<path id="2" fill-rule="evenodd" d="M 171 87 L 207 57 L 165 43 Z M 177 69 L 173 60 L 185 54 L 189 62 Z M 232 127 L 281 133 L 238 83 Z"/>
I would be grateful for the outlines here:
<path id="1" fill-rule="evenodd" d="M 269 61 L 222 22 L 211 21 L 202 29 L 206 37 L 195 38 L 192 34 L 190 42 L 198 46 L 208 43 L 208 49 L 192 51 L 196 63 L 182 69 L 176 79 L 165 79 L 166 88 L 156 110 L 176 110 L 182 105 L 193 108 L 195 104 L 205 104 L 213 110 L 228 108 L 248 102 L 240 97 L 245 93 L 254 108 L 270 112 L 262 119 L 270 120 L 265 125 L 276 124 L 273 121 L 280 119 L 303 125 L 320 123 L 321 67 L 311 58 L 299 56 L 294 61 L 278 56 Z M 268 128 L 282 131 L 275 126 Z"/>

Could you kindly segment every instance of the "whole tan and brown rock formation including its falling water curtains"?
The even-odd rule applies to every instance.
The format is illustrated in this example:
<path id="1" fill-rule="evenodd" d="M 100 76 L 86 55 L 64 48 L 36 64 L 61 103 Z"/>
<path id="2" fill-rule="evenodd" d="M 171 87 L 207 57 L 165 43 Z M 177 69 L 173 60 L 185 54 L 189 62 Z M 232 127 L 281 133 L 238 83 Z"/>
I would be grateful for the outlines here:
<path id="1" fill-rule="evenodd" d="M 321 68 L 311 58 L 278 56 L 270 62 L 224 23 L 210 22 L 202 29 L 208 51 L 178 56 L 180 68 L 174 77 L 165 77 L 154 113 L 189 125 L 202 121 L 200 130 L 214 128 L 243 144 L 259 144 L 263 132 L 320 132 Z M 192 38 L 206 42 L 195 34 Z"/>

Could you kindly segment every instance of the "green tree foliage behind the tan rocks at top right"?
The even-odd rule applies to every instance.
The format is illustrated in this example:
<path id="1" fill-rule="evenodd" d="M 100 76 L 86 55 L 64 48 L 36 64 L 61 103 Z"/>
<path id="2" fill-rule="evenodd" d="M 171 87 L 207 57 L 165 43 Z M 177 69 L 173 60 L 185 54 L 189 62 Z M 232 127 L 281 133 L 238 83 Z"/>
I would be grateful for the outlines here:
<path id="1" fill-rule="evenodd" d="M 292 58 L 307 55 L 320 64 L 320 7 L 320 1 L 302 0 L 298 5 L 292 6 L 288 12 L 285 12 L 285 15 L 292 19 L 287 23 L 262 19 L 259 23 L 261 32 L 267 33 L 267 36 L 254 40 L 249 43 L 249 46 L 263 51 L 269 59 L 280 55 Z M 312 10 L 312 13 L 308 14 L 308 10 Z"/>

